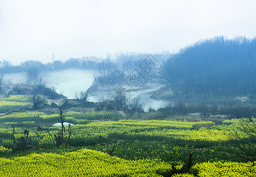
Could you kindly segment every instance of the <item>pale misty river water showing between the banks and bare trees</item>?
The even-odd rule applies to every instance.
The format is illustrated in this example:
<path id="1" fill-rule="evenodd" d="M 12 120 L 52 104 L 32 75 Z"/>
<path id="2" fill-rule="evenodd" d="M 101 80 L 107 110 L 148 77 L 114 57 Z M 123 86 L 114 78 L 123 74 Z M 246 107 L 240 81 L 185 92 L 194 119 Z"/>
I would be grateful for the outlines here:
<path id="1" fill-rule="evenodd" d="M 68 97 L 68 99 L 74 99 L 76 92 L 79 93 L 79 91 L 86 91 L 92 86 L 94 72 L 94 70 L 77 69 L 49 71 L 47 73 L 43 72 L 43 78 L 47 80 L 47 86 L 56 87 L 57 93 L 62 93 L 64 96 Z M 5 74 L 6 83 L 25 83 L 25 78 L 25 72 Z M 150 89 L 129 91 L 129 93 L 127 93 L 127 98 L 132 99 L 133 97 L 141 96 L 142 103 L 145 105 L 145 111 L 150 107 L 152 109 L 158 109 L 168 104 L 167 101 L 153 100 L 150 98 L 152 91 L 157 90 L 160 87 L 161 84 L 156 84 Z M 110 91 L 92 92 L 92 95 L 89 97 L 89 101 L 97 102 L 103 99 L 111 99 Z"/>

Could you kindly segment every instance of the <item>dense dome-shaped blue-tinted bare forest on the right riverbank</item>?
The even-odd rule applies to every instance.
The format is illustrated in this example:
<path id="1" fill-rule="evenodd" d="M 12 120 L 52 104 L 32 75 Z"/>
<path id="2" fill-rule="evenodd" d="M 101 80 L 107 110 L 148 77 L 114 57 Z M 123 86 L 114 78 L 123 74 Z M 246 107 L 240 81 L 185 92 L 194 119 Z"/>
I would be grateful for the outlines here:
<path id="1" fill-rule="evenodd" d="M 256 38 L 198 41 L 164 64 L 165 86 L 176 94 L 250 96 L 256 93 Z"/>

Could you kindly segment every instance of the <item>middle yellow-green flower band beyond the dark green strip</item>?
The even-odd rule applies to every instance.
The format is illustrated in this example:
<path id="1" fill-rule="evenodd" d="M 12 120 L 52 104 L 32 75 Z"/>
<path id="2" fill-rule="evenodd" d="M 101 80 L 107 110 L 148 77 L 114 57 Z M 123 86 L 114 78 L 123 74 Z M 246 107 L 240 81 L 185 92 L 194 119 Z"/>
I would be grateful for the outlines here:
<path id="1" fill-rule="evenodd" d="M 23 116 L 20 116 L 22 114 Z M 27 115 L 27 117 L 24 115 Z M 56 121 L 57 114 L 46 115 L 40 112 L 25 112 L 2 116 L 0 120 L 1 119 L 8 119 L 12 122 L 14 122 L 14 120 L 26 121 L 20 125 L 22 126 L 24 124 L 31 127 L 39 120 L 41 120 L 41 122 Z M 70 120 L 69 122 L 72 123 L 72 117 L 67 117 L 66 119 L 68 121 Z M 76 121 L 87 120 L 76 119 Z M 199 144 L 201 142 L 219 143 L 228 140 L 228 132 L 230 132 L 230 129 L 232 129 L 233 126 L 223 125 L 221 128 L 216 126 L 194 130 L 192 129 L 193 124 L 193 122 L 181 122 L 176 120 L 119 120 L 77 124 L 71 126 L 72 136 L 70 143 L 74 146 L 87 146 L 107 142 L 110 139 L 153 141 L 175 140 L 184 142 L 192 141 Z M 57 135 L 60 132 L 60 129 L 61 127 L 47 127 L 44 128 L 43 132 L 39 132 L 36 127 L 30 128 L 29 143 L 40 146 L 55 145 L 54 135 Z M 15 130 L 17 132 L 15 136 L 20 136 L 24 129 L 15 126 Z M 7 147 L 11 148 L 7 140 L 12 137 L 11 126 L 8 129 L 0 128 L 0 135 L 3 139 L 3 144 L 5 145 L 5 143 L 7 143 Z M 68 136 L 68 132 L 66 132 L 65 136 Z"/>

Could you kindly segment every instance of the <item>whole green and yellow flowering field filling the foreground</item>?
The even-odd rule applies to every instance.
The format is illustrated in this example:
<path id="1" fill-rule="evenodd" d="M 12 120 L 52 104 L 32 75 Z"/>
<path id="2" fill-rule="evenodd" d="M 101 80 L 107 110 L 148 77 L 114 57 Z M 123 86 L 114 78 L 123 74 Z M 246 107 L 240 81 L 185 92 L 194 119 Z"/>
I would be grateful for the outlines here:
<path id="1" fill-rule="evenodd" d="M 254 163 L 233 154 L 239 149 L 232 146 L 232 135 L 239 135 L 237 141 L 249 138 L 238 131 L 240 119 L 215 125 L 129 119 L 105 111 L 70 112 L 66 122 L 74 125 L 66 126 L 66 143 L 60 146 L 55 135 L 61 127 L 52 126 L 57 120 L 57 113 L 44 112 L 1 116 L 0 176 L 171 176 L 172 165 L 180 169 L 190 153 L 190 171 L 173 176 L 256 176 Z"/>

